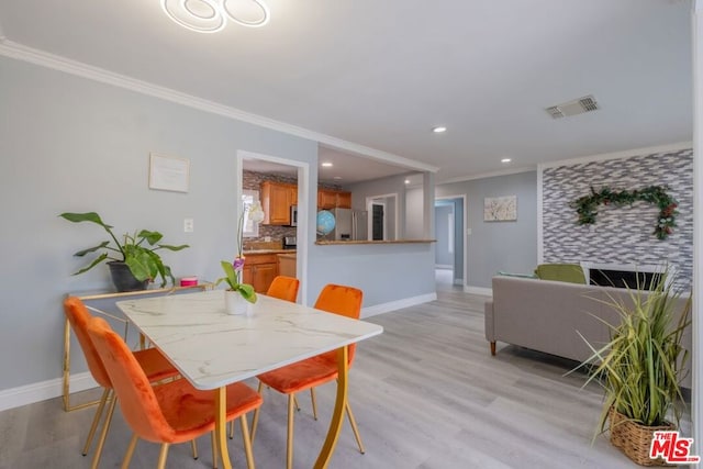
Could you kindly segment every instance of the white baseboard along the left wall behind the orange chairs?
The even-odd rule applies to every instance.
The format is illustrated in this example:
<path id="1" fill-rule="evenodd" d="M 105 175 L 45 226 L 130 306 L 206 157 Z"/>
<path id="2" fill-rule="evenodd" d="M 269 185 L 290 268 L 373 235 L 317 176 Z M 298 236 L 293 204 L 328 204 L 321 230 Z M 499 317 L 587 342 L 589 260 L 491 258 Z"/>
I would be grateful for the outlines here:
<path id="1" fill-rule="evenodd" d="M 85 391 L 98 387 L 89 371 L 70 376 L 70 392 Z M 34 382 L 0 391 L 0 411 L 33 404 L 63 394 L 64 380 L 62 378 Z"/>

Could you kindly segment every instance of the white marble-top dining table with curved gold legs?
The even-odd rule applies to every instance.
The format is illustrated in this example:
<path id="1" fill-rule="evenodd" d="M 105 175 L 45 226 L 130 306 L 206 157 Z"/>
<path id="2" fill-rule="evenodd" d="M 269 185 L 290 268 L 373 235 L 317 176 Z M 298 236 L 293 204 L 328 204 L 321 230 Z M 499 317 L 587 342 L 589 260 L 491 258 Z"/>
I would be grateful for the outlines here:
<path id="1" fill-rule="evenodd" d="M 226 386 L 330 350 L 339 376 L 327 436 L 315 468 L 330 462 L 347 400 L 347 346 L 379 335 L 377 324 L 258 295 L 247 315 L 225 312 L 224 291 L 144 298 L 118 308 L 194 388 L 216 390 L 215 439 L 231 468 L 225 434 Z M 247 464 L 254 468 L 253 457 Z"/>

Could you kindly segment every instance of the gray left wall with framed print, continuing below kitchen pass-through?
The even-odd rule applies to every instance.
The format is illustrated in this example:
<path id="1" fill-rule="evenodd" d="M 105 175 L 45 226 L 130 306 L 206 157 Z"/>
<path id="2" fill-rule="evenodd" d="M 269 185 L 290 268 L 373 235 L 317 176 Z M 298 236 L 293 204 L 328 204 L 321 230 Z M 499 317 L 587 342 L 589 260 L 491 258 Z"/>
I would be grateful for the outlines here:
<path id="1" fill-rule="evenodd" d="M 118 232 L 158 230 L 165 242 L 191 245 L 164 256 L 176 277 L 212 280 L 219 260 L 234 254 L 237 149 L 309 163 L 309 191 L 316 190 L 316 142 L 5 57 L 0 110 L 0 343 L 12 350 L 0 354 L 0 390 L 59 378 L 63 298 L 110 288 L 107 268 L 69 275 L 82 265 L 71 254 L 103 232 L 58 213 L 97 211 Z M 148 189 L 149 152 L 190 159 L 189 192 Z M 193 233 L 183 233 L 185 217 L 194 219 Z M 306 228 L 314 233 L 313 217 Z M 309 299 L 331 281 L 365 289 L 365 306 L 434 291 L 427 246 L 349 254 L 313 238 Z M 71 371 L 85 369 L 75 362 Z"/>

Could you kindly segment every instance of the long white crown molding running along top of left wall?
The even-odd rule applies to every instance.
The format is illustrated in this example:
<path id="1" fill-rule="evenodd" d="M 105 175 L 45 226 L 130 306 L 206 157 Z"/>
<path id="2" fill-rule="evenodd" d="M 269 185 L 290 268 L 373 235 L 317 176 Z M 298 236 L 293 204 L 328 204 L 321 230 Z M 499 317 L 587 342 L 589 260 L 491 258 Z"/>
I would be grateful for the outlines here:
<path id="1" fill-rule="evenodd" d="M 310 139 L 331 148 L 350 152 L 365 158 L 375 159 L 378 161 L 401 166 L 409 169 L 437 172 L 438 167 L 427 165 L 421 161 L 415 161 L 392 153 L 382 152 L 380 149 L 371 148 L 368 146 L 359 145 L 354 142 L 348 142 L 342 138 L 333 137 L 331 135 L 322 134 L 319 132 L 310 131 L 308 129 L 299 127 L 295 125 L 287 124 L 284 122 L 276 121 L 265 118 L 263 115 L 252 114 L 249 112 L 242 111 L 236 108 L 219 104 L 214 101 L 209 101 L 202 98 L 187 94 L 180 91 L 172 90 L 170 88 L 154 85 L 147 81 L 137 80 L 135 78 L 127 77 L 125 75 L 115 74 L 104 68 L 93 67 L 81 62 L 71 60 L 69 58 L 49 54 L 44 51 L 27 47 L 23 44 L 19 44 L 4 38 L 0 31 L 0 55 L 14 58 L 18 60 L 27 62 L 42 67 L 52 68 L 54 70 L 64 71 L 66 74 L 76 75 L 90 80 L 99 81 L 114 87 L 124 88 L 131 91 L 135 91 L 142 94 L 159 98 L 165 101 L 175 102 L 189 108 L 193 108 L 200 111 L 209 112 L 212 114 L 222 115 L 224 118 L 233 119 L 236 121 L 247 122 L 249 124 L 258 125 L 260 127 L 270 129 L 274 131 L 282 132 L 288 135 Z"/>

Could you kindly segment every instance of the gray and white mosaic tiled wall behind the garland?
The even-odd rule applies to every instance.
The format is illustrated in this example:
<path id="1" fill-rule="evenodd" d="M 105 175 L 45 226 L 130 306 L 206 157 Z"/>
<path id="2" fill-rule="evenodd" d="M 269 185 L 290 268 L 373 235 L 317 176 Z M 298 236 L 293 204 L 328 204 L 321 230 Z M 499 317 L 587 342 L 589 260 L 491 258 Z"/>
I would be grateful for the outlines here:
<path id="1" fill-rule="evenodd" d="M 543 179 L 543 258 L 545 263 L 634 264 L 676 267 L 678 283 L 693 277 L 693 150 L 633 156 L 547 167 Z M 646 202 L 600 205 L 593 225 L 577 225 L 569 202 L 600 190 L 633 190 L 666 185 L 679 201 L 678 227 L 667 239 L 652 234 L 659 210 Z"/>

